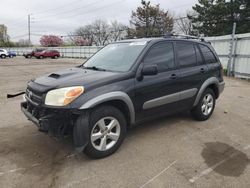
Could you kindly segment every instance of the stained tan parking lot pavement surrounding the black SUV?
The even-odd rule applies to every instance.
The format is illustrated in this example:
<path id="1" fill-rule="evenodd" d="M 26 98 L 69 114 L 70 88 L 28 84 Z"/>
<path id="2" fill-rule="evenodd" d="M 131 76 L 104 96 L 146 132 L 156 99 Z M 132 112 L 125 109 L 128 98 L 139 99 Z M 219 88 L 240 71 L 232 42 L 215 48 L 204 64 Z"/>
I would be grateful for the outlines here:
<path id="1" fill-rule="evenodd" d="M 188 113 L 129 130 L 112 156 L 75 155 L 71 139 L 58 142 L 20 110 L 38 75 L 80 64 L 80 59 L 0 59 L 0 187 L 250 187 L 250 82 L 225 78 L 212 117 Z"/>

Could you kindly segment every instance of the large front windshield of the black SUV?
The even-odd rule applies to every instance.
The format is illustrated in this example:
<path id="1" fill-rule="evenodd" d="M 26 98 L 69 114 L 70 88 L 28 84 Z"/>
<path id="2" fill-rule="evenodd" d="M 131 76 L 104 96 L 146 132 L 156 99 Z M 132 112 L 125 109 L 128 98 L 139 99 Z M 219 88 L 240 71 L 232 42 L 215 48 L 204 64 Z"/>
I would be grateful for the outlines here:
<path id="1" fill-rule="evenodd" d="M 145 41 L 109 44 L 84 63 L 84 67 L 126 72 L 145 46 Z"/>

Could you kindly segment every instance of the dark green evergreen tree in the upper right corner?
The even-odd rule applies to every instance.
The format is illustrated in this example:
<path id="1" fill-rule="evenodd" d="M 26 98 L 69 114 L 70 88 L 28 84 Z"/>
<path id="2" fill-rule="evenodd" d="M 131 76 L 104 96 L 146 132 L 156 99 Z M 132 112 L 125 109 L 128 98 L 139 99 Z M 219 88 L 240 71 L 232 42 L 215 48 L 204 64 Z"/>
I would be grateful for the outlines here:
<path id="1" fill-rule="evenodd" d="M 195 13 L 188 15 L 193 30 L 205 36 L 250 32 L 250 0 L 198 0 L 193 6 Z"/>

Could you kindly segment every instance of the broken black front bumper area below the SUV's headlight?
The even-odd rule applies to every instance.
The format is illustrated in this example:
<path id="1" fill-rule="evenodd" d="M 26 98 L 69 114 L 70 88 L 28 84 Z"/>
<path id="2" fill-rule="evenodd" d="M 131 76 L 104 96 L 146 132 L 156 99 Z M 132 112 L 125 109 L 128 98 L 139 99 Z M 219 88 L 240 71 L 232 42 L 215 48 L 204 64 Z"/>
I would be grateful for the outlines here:
<path id="1" fill-rule="evenodd" d="M 66 134 L 73 133 L 74 145 L 77 152 L 82 152 L 89 140 L 88 115 L 85 111 L 72 109 L 51 109 L 36 106 L 29 101 L 21 103 L 21 110 L 28 120 L 32 121 L 40 131 L 48 132 L 50 136 L 62 139 Z M 79 115 L 85 120 L 75 123 Z M 73 132 L 72 132 L 73 130 Z"/>

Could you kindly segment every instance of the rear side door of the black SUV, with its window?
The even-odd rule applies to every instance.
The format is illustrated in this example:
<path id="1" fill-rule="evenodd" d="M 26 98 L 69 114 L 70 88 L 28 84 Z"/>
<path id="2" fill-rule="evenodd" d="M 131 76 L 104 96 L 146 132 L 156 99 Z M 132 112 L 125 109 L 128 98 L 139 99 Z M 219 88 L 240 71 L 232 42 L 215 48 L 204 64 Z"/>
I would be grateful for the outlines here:
<path id="1" fill-rule="evenodd" d="M 175 43 L 181 80 L 181 105 L 190 108 L 202 83 L 209 77 L 199 47 L 192 41 Z"/>

